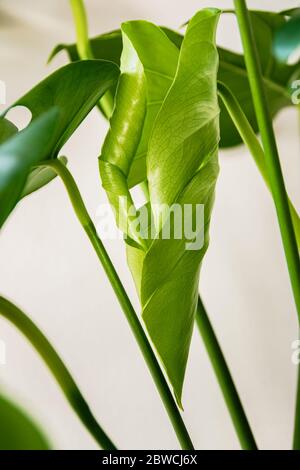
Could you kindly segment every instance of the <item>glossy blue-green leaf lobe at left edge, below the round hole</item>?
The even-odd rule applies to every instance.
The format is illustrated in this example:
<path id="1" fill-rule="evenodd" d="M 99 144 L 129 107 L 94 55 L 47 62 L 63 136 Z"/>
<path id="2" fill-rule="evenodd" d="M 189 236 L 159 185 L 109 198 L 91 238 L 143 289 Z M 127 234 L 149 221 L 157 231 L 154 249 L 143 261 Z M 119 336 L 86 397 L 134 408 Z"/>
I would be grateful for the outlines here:
<path id="1" fill-rule="evenodd" d="M 17 204 L 31 167 L 46 158 L 58 116 L 52 108 L 0 145 L 0 227 Z"/>

